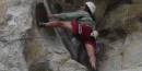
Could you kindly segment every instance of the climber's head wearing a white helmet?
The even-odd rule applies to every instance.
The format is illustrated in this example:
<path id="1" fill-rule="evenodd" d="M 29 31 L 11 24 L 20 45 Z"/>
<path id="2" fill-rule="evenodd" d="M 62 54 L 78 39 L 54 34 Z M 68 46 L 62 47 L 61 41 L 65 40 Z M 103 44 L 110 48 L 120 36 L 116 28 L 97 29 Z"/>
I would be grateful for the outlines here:
<path id="1" fill-rule="evenodd" d="M 88 13 L 94 14 L 95 10 L 96 10 L 96 7 L 92 1 L 85 2 L 85 11 L 87 11 Z"/>

